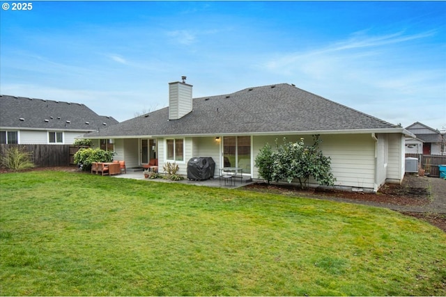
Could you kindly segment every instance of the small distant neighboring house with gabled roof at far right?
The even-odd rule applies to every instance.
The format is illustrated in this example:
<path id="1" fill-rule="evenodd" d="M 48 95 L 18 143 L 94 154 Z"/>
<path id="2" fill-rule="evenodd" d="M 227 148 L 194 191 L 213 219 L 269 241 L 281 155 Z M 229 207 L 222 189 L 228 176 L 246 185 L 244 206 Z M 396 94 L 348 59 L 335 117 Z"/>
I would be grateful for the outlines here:
<path id="1" fill-rule="evenodd" d="M 407 154 L 446 154 L 445 134 L 421 122 L 414 122 L 406 130 L 415 134 L 416 138 L 406 138 Z"/>

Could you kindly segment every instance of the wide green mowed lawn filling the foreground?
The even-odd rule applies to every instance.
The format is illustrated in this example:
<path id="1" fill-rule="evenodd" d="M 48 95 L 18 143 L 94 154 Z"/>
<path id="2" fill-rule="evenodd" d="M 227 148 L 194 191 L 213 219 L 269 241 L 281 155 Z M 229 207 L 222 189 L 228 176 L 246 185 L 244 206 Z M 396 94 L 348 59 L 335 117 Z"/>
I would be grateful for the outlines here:
<path id="1" fill-rule="evenodd" d="M 386 209 L 36 171 L 0 211 L 3 296 L 446 295 L 446 234 Z"/>

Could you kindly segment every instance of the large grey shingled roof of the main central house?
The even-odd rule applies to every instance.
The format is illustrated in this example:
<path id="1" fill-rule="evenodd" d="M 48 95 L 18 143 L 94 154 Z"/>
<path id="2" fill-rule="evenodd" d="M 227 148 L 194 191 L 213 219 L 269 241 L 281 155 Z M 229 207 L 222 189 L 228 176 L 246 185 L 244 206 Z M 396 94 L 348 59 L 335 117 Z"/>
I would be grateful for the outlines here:
<path id="1" fill-rule="evenodd" d="M 193 99 L 192 112 L 169 120 L 169 107 L 126 120 L 88 138 L 319 133 L 401 129 L 287 83 Z M 402 129 L 401 129 L 402 130 Z"/>

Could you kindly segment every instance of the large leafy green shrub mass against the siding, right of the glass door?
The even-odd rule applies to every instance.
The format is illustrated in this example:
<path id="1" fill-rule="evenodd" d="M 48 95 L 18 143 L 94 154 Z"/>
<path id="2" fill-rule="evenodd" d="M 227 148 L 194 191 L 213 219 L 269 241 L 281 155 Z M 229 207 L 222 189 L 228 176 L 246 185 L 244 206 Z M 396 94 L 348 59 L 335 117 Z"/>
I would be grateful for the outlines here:
<path id="1" fill-rule="evenodd" d="M 269 152 L 269 145 L 265 145 L 259 161 L 259 174 L 264 179 L 286 180 L 292 182 L 298 179 L 301 188 L 308 186 L 309 178 L 313 177 L 321 185 L 332 186 L 336 179 L 330 172 L 330 157 L 323 156 L 318 145 L 321 140 L 317 135 L 313 136 L 314 144 L 305 145 L 304 138 L 296 143 L 286 142 L 278 145 L 276 152 Z M 268 148 L 269 147 L 269 148 Z M 271 166 L 272 162 L 272 166 Z M 257 166 L 257 162 L 256 162 Z"/>

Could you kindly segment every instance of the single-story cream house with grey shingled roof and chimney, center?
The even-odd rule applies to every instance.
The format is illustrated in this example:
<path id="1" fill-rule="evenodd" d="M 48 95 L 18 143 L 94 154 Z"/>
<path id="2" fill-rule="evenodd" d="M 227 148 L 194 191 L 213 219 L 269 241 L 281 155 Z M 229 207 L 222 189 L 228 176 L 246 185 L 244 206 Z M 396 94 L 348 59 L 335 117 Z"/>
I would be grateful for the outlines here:
<path id="1" fill-rule="evenodd" d="M 186 175 L 192 157 L 210 156 L 216 176 L 230 165 L 257 179 L 261 147 L 284 137 L 312 144 L 313 134 L 331 157 L 336 186 L 377 191 L 403 179 L 404 136 L 413 136 L 406 129 L 286 83 L 195 99 L 190 84 L 169 83 L 169 107 L 84 137 L 113 138 L 115 158 L 128 168 L 156 158 L 160 168 L 176 162 Z"/>

